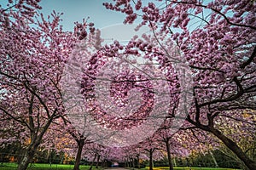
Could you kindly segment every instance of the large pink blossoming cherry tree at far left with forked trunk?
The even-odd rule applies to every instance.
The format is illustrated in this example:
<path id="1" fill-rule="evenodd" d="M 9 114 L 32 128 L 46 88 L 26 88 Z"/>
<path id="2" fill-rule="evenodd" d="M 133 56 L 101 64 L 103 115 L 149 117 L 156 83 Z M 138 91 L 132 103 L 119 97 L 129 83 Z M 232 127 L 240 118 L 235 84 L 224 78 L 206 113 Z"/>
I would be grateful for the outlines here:
<path id="1" fill-rule="evenodd" d="M 36 12 L 39 1 L 17 2 L 1 8 L 0 112 L 4 127 L 15 122 L 23 129 L 26 152 L 18 166 L 23 170 L 50 124 L 64 116 L 61 74 L 75 43 L 87 36 L 88 25 L 77 23 L 73 32 L 62 31 L 61 14 L 45 19 Z"/>

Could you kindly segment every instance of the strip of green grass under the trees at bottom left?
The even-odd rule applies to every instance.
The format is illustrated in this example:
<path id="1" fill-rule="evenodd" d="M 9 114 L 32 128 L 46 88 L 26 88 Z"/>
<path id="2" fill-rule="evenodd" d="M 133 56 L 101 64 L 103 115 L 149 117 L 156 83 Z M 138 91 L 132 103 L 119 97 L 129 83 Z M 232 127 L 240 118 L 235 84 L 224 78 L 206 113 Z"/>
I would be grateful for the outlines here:
<path id="1" fill-rule="evenodd" d="M 16 170 L 17 163 L 3 163 L 3 167 L 0 166 L 0 170 Z M 80 165 L 80 170 L 88 170 L 90 166 Z M 61 164 L 44 164 L 34 163 L 27 167 L 27 170 L 72 170 L 73 165 L 61 165 Z M 95 169 L 95 168 L 93 168 Z M 101 168 L 99 168 L 101 170 Z"/>

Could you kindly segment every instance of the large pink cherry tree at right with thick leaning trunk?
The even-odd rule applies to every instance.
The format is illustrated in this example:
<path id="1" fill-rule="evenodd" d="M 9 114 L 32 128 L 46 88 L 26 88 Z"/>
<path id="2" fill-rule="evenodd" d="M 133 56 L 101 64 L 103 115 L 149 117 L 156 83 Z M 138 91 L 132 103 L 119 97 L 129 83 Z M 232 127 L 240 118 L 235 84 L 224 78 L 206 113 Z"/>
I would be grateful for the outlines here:
<path id="1" fill-rule="evenodd" d="M 220 115 L 230 116 L 230 111 L 241 109 L 255 110 L 255 2 L 119 0 L 104 5 L 126 14 L 125 23 L 139 18 L 142 20 L 139 26 L 149 26 L 164 35 L 155 34 L 159 39 L 171 37 L 176 42 L 194 73 L 195 99 L 187 121 L 192 127 L 214 134 L 249 169 L 255 169 L 255 161 L 236 139 L 225 135 L 220 125 L 216 126 Z M 131 42 L 129 50 L 139 48 L 151 56 L 148 58 L 161 58 L 161 66 L 172 63 L 170 55 L 162 53 L 163 48 L 170 47 L 162 44 L 160 48 L 152 48 L 143 41 L 136 46 L 138 42 Z M 231 117 L 236 119 L 236 114 Z"/>

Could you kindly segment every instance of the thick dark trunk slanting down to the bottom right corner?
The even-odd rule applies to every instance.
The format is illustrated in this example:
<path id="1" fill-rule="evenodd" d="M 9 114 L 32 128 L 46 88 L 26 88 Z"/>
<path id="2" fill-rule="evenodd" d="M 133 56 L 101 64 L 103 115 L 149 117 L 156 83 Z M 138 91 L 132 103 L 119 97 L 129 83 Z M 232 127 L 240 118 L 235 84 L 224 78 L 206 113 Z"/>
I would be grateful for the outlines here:
<path id="1" fill-rule="evenodd" d="M 250 170 L 256 169 L 256 161 L 251 160 L 234 141 L 226 137 L 223 133 L 218 131 L 218 129 L 210 128 L 210 132 L 232 150 Z"/>

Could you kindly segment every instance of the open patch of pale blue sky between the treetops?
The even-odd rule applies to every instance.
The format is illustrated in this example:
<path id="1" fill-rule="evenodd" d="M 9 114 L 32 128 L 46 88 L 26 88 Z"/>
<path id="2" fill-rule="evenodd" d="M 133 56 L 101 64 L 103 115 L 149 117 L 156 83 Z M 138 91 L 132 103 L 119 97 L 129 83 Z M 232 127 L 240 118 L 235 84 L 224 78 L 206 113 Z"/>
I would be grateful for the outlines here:
<path id="1" fill-rule="evenodd" d="M 89 22 L 93 22 L 102 31 L 101 36 L 105 42 L 127 42 L 135 35 L 148 32 L 148 28 L 134 31 L 136 24 L 124 26 L 125 14 L 105 8 L 102 3 L 106 2 L 111 3 L 113 0 L 42 0 L 39 4 L 42 6 L 40 12 L 44 16 L 51 14 L 53 10 L 63 13 L 61 25 L 65 31 L 73 31 L 75 21 L 82 22 L 90 17 Z"/>

